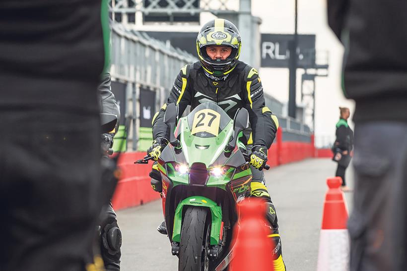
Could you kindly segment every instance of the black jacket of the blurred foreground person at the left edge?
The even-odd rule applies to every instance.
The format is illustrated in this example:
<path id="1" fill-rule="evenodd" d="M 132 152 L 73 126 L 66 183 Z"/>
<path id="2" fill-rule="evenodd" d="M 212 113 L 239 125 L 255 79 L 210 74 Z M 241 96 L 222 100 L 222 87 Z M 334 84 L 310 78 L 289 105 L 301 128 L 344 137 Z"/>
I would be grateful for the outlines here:
<path id="1" fill-rule="evenodd" d="M 98 114 L 100 0 L 1 0 L 0 107 Z"/>

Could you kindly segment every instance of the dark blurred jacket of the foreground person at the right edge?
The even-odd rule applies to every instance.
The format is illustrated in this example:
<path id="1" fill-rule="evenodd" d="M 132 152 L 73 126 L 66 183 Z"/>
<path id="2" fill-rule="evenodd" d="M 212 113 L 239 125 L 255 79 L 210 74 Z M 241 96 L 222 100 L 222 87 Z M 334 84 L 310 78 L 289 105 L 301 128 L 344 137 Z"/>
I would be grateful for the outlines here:
<path id="1" fill-rule="evenodd" d="M 355 121 L 407 121 L 407 1 L 328 0 L 328 22 L 345 46 L 344 94 Z"/>

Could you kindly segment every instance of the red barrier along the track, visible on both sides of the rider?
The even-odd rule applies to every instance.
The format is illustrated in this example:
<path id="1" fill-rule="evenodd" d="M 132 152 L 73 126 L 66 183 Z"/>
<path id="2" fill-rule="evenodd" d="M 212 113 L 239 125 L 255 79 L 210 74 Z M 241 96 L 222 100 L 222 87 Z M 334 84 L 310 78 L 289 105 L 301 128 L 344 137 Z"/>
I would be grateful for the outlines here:
<path id="1" fill-rule="evenodd" d="M 282 133 L 279 129 L 276 142 L 273 143 L 269 150 L 269 161 L 267 163 L 274 167 L 315 157 L 315 154 L 319 157 L 319 150 L 315 150 L 312 142 L 312 140 L 311 143 L 283 142 Z M 123 173 L 112 199 L 115 210 L 138 206 L 160 198 L 159 193 L 153 191 L 150 186 L 148 173 L 151 170 L 152 163 L 134 163 L 144 156 L 144 152 L 129 152 L 121 155 L 119 166 Z"/>

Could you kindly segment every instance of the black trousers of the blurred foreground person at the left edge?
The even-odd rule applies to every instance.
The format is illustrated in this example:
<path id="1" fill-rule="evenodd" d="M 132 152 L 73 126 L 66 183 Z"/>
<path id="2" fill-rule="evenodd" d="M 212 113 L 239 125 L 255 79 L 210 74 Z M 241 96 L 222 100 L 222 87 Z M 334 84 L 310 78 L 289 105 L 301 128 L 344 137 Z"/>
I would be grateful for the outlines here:
<path id="1" fill-rule="evenodd" d="M 0 119 L 0 270 L 84 270 L 101 208 L 98 113 L 0 107 Z"/>

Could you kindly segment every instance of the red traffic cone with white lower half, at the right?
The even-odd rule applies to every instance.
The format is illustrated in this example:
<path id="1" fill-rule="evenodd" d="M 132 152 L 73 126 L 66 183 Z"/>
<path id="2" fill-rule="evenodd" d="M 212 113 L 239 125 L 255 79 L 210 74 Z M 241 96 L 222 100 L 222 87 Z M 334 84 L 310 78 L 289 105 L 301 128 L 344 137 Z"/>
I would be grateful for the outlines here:
<path id="1" fill-rule="evenodd" d="M 340 177 L 327 179 L 324 214 L 318 252 L 318 271 L 349 270 L 349 235 L 346 228 L 348 212 Z"/>

